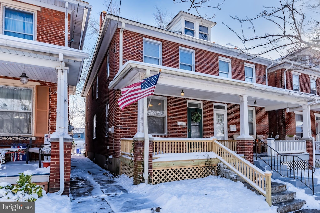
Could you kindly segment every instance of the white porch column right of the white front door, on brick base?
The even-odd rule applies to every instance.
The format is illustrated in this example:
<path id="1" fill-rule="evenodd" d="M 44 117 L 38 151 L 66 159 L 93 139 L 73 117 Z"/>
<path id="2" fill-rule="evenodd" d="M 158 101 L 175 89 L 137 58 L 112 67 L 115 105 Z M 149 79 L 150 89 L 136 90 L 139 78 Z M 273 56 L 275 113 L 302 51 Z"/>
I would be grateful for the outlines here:
<path id="1" fill-rule="evenodd" d="M 247 138 L 253 140 L 249 135 L 249 119 L 248 119 L 248 96 L 240 96 L 240 136 L 238 138 Z"/>

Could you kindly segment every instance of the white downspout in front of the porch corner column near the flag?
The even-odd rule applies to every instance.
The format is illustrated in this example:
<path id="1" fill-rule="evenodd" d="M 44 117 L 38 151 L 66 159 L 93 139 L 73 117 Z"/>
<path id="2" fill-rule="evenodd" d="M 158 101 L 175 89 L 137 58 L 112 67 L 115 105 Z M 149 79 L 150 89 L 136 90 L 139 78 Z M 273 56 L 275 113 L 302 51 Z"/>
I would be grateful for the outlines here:
<path id="1" fill-rule="evenodd" d="M 148 134 L 148 109 L 147 109 L 148 98 L 143 98 L 143 132 L 144 132 L 144 168 L 143 178 L 144 183 L 148 184 L 149 176 L 149 134 Z"/>

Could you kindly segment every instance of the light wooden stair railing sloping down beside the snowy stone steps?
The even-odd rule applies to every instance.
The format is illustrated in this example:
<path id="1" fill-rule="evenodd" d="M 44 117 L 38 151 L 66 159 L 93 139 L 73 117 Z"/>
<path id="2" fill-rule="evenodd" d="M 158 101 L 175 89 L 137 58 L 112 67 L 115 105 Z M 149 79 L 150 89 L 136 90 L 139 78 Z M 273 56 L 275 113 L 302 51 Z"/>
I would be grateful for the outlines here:
<path id="1" fill-rule="evenodd" d="M 213 144 L 212 151 L 220 157 L 223 164 L 264 195 L 269 206 L 271 206 L 270 172 L 263 172 L 217 141 Z"/>

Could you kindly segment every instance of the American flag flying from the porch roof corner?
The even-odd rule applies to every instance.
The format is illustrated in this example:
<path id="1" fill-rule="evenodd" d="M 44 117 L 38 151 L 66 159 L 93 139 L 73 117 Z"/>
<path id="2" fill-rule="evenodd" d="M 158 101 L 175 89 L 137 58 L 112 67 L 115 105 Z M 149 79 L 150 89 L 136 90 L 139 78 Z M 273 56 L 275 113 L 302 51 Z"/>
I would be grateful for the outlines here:
<path id="1" fill-rule="evenodd" d="M 121 97 L 118 99 L 120 109 L 123 110 L 124 107 L 132 104 L 133 102 L 152 95 L 155 92 L 159 75 L 160 72 L 157 75 L 143 79 L 138 83 L 124 87 L 121 90 Z"/>

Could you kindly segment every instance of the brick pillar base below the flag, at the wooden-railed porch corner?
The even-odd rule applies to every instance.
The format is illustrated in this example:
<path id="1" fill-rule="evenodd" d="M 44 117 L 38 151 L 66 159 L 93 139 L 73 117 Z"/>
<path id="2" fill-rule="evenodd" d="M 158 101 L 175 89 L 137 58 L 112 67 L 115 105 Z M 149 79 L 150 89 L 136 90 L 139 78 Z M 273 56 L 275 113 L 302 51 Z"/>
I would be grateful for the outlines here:
<path id="1" fill-rule="evenodd" d="M 133 184 L 144 183 L 144 138 L 133 138 Z M 152 184 L 153 138 L 149 138 L 148 184 Z"/>

